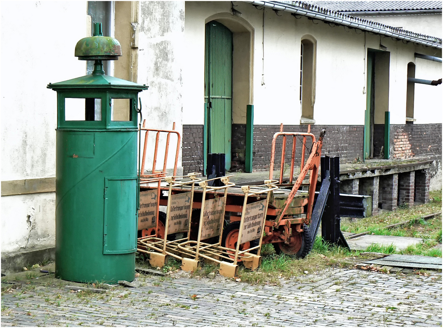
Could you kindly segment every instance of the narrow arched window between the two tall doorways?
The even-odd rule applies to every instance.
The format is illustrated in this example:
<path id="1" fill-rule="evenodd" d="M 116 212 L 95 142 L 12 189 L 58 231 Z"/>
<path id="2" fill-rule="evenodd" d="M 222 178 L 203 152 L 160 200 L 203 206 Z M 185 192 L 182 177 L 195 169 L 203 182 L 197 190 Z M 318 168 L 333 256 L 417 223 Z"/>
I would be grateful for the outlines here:
<path id="1" fill-rule="evenodd" d="M 315 124 L 315 53 L 317 42 L 311 36 L 303 37 L 300 46 L 300 124 Z"/>

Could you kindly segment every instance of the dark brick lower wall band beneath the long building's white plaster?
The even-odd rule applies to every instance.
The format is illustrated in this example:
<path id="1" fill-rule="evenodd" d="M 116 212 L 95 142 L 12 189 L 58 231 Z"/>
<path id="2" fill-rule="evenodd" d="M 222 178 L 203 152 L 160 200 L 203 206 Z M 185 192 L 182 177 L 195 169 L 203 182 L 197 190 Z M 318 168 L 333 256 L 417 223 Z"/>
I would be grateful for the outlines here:
<path id="1" fill-rule="evenodd" d="M 381 125 L 383 126 L 383 125 Z M 280 126 L 254 126 L 253 169 L 256 171 L 268 170 L 271 159 L 271 141 L 274 133 Z M 326 130 L 323 142 L 322 155 L 339 155 L 342 162 L 351 162 L 363 156 L 363 126 L 311 126 L 311 132 L 318 138 L 321 129 Z M 285 131 L 306 132 L 307 126 L 284 126 Z M 242 124 L 233 125 L 233 168 L 244 168 L 245 127 Z M 391 125 L 391 158 L 417 158 L 426 157 L 436 160 L 431 168 L 431 177 L 439 175 L 441 180 L 441 154 L 442 154 L 442 125 L 441 124 L 403 124 Z M 203 126 L 184 125 L 182 136 L 183 170 L 189 172 L 203 172 Z M 402 140 L 404 139 L 404 140 Z M 276 162 L 280 164 L 282 138 L 277 139 Z M 301 156 L 302 138 L 296 141 L 296 156 Z M 307 153 L 310 145 L 307 142 Z M 410 146 L 409 146 L 410 145 Z M 234 147 L 235 146 L 235 147 Z M 409 148 L 410 147 L 410 148 Z M 235 152 L 234 152 L 235 150 Z M 292 141 L 288 138 L 286 145 L 285 162 L 291 158 Z M 409 153 L 408 150 L 411 150 Z M 412 155 L 413 154 L 413 155 Z M 235 155 L 235 156 L 234 156 Z M 377 154 L 376 154 L 377 155 Z M 413 156 L 413 157 L 407 157 Z M 377 156 L 376 156 L 377 157 Z M 235 159 L 235 160 L 234 160 Z M 437 183 L 438 184 L 438 183 Z M 435 189 L 435 188 L 434 188 Z"/>

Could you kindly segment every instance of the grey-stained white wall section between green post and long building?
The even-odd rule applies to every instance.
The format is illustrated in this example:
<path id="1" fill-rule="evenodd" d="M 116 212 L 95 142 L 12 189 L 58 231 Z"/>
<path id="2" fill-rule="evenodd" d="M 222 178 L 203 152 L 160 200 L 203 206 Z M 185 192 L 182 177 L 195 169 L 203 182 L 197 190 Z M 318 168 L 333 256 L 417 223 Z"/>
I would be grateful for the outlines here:
<path id="1" fill-rule="evenodd" d="M 184 1 L 140 1 L 138 83 L 149 86 L 140 93 L 146 127 L 175 130 L 182 133 L 182 69 L 184 43 Z M 142 137 L 144 142 L 144 137 Z M 166 134 L 161 135 L 157 169 L 163 167 Z M 167 168 L 174 167 L 177 137 L 172 134 L 167 158 Z M 155 133 L 148 136 L 145 170 L 152 171 Z M 181 143 L 180 143 L 181 149 Z M 181 151 L 177 166 L 180 172 Z M 183 172 L 183 171 L 181 171 Z"/>

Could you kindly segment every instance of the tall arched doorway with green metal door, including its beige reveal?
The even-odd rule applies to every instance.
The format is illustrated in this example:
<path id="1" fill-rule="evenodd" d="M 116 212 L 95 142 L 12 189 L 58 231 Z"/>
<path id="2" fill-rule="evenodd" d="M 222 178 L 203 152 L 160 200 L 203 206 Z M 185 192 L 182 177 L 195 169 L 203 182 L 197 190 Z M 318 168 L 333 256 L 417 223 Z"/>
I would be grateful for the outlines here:
<path id="1" fill-rule="evenodd" d="M 230 13 L 218 13 L 212 15 L 205 20 L 205 23 L 204 95 L 206 116 L 203 138 L 205 169 L 206 153 L 221 152 L 226 154 L 226 169 L 231 168 L 231 170 L 234 171 L 245 170 L 246 163 L 248 163 L 250 171 L 247 172 L 252 172 L 253 125 L 251 117 L 253 117 L 254 29 L 245 19 L 234 16 Z M 214 35 L 217 33 L 222 33 L 223 36 Z M 228 34 L 231 36 L 232 42 L 229 43 L 232 46 L 222 46 L 222 42 L 227 42 L 224 38 L 228 38 Z M 224 41 L 222 41 L 222 39 L 224 39 Z M 218 55 L 215 55 L 215 53 L 218 53 Z M 227 57 L 229 54 L 231 54 L 230 59 Z M 208 55 L 210 56 L 208 57 Z M 210 62 L 209 59 L 212 62 Z M 219 63 L 224 61 L 225 64 L 218 65 L 217 61 Z M 231 69 L 230 71 L 228 68 L 229 62 L 231 63 L 229 66 Z M 224 90 L 228 90 L 229 72 L 231 80 L 230 93 L 225 92 L 225 95 L 216 93 L 218 92 L 218 90 L 215 90 L 216 85 L 214 85 L 214 91 L 212 91 L 212 80 L 216 81 L 218 88 L 221 88 L 221 85 L 224 83 Z M 211 82 L 209 82 L 208 79 L 210 79 Z M 211 88 L 206 88 L 206 86 L 209 85 Z M 209 96 L 214 100 L 209 100 Z M 215 96 L 219 96 L 219 98 L 216 98 Z M 224 96 L 224 98 L 221 98 L 221 96 Z M 229 103 L 231 105 L 230 113 L 228 109 Z M 221 107 L 221 104 L 223 104 L 225 110 L 223 114 L 223 123 L 221 123 L 221 110 L 217 110 L 217 108 L 214 107 L 215 105 Z M 249 115 L 252 114 L 252 116 L 247 116 L 247 113 L 249 113 Z M 247 121 L 247 117 L 249 117 L 249 121 Z M 218 121 L 214 122 L 216 118 L 218 118 Z M 224 137 L 220 132 L 222 128 Z M 217 139 L 219 140 L 218 145 L 216 143 Z M 225 140 L 223 141 L 224 151 L 214 150 L 220 149 L 220 140 Z M 249 146 L 247 147 L 247 145 Z"/>

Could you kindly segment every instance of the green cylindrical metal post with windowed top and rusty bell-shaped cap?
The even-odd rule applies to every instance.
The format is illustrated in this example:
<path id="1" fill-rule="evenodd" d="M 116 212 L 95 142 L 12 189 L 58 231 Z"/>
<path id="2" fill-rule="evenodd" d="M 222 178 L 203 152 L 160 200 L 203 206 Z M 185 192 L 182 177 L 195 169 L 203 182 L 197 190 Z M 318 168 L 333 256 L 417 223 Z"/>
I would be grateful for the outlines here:
<path id="1" fill-rule="evenodd" d="M 121 56 L 101 35 L 75 47 L 91 75 L 49 84 L 57 92 L 55 276 L 76 282 L 132 281 L 137 233 L 137 99 L 145 85 L 105 75 Z"/>

